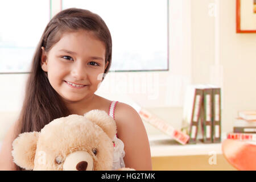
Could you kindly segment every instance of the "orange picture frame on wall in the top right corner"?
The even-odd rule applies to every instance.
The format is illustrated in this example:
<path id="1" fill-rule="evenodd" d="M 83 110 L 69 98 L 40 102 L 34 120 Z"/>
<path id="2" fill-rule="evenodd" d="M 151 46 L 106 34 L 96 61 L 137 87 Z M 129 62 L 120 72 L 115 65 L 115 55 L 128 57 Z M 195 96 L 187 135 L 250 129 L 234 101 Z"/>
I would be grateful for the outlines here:
<path id="1" fill-rule="evenodd" d="M 237 33 L 256 33 L 256 0 L 237 0 Z"/>

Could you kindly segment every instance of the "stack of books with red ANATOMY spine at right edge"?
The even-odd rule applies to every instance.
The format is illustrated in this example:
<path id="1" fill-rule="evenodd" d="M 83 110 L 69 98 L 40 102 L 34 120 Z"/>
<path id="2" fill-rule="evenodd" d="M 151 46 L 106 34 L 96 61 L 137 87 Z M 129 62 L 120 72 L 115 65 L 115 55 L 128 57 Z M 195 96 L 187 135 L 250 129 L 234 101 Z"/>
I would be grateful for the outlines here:
<path id="1" fill-rule="evenodd" d="M 238 111 L 228 139 L 256 142 L 256 110 Z"/>

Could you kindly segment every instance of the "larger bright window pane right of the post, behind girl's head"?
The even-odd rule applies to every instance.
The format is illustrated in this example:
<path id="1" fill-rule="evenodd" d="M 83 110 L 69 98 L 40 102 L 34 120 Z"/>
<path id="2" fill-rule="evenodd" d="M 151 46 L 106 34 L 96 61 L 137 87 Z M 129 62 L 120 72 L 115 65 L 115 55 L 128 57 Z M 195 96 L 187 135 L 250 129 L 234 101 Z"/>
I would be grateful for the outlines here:
<path id="1" fill-rule="evenodd" d="M 168 1 L 62 0 L 101 16 L 112 34 L 110 71 L 168 70 Z"/>

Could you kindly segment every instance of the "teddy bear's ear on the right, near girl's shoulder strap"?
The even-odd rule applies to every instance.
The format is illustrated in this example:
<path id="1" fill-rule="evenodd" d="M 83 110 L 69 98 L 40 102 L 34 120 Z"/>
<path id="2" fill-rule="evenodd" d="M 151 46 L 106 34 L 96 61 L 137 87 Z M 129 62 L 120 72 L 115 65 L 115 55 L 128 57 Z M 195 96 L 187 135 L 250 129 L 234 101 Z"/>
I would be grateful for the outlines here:
<path id="1" fill-rule="evenodd" d="M 117 133 L 117 126 L 115 125 L 114 119 L 104 110 L 91 110 L 88 113 L 85 113 L 84 117 L 100 126 L 111 139 L 113 139 Z"/>

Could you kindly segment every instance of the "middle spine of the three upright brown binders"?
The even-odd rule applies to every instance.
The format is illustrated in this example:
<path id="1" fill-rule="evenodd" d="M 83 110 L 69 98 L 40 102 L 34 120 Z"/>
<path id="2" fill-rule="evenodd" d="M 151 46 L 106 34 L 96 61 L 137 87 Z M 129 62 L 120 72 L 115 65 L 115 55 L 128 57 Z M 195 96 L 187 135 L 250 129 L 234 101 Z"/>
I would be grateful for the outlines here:
<path id="1" fill-rule="evenodd" d="M 212 143 L 212 89 L 204 89 L 203 142 Z"/>

